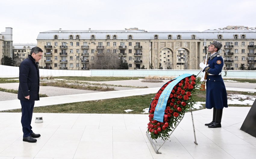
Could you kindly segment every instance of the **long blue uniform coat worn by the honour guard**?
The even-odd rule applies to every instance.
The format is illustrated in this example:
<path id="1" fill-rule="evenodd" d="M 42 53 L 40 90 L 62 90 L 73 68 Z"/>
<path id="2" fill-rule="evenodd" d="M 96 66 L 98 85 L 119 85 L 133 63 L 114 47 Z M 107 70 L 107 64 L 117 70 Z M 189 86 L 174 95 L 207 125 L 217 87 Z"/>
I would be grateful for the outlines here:
<path id="1" fill-rule="evenodd" d="M 205 107 L 207 109 L 223 109 L 223 107 L 228 107 L 226 87 L 221 75 L 219 75 L 224 65 L 223 58 L 217 55 L 209 59 L 208 64 L 209 67 L 204 68 L 207 73 Z"/>

